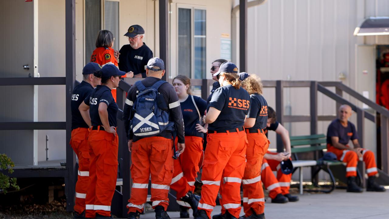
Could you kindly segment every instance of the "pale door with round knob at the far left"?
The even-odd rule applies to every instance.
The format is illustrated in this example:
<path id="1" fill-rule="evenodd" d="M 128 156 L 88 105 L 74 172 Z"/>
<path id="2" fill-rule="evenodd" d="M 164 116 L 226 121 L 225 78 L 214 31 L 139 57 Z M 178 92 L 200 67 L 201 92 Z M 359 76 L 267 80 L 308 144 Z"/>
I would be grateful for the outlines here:
<path id="1" fill-rule="evenodd" d="M 38 74 L 37 14 L 38 1 L 1 0 L 0 14 L 0 78 L 28 78 Z M 34 28 L 34 26 L 36 28 Z M 25 69 L 23 68 L 25 66 Z M 0 106 L 0 122 L 33 122 L 37 119 L 37 86 L 0 86 L 4 98 Z M 0 153 L 15 164 L 37 164 L 37 131 L 0 131 Z"/>

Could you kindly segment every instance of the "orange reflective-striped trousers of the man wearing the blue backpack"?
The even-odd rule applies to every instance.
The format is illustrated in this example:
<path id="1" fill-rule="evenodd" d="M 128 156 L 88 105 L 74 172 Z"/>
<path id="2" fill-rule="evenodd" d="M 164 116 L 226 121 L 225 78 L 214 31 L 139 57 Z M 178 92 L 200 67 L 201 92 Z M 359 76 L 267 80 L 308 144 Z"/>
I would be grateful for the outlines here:
<path id="1" fill-rule="evenodd" d="M 173 177 L 172 140 L 163 137 L 142 138 L 132 143 L 131 197 L 128 213 L 142 212 L 147 199 L 147 188 L 151 175 L 152 208 L 161 205 L 167 209 L 168 192 Z"/>

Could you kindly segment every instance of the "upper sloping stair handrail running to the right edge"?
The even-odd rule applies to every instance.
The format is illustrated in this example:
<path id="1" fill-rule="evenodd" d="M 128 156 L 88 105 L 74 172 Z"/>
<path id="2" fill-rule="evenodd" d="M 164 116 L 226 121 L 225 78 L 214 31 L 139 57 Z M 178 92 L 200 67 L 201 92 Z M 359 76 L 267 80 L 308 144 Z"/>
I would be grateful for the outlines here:
<path id="1" fill-rule="evenodd" d="M 376 104 L 375 102 L 371 101 L 370 99 L 364 97 L 363 95 L 359 94 L 355 90 L 352 90 L 350 87 L 346 86 L 345 84 L 338 82 L 338 81 L 322 81 L 318 82 L 319 84 L 326 86 L 326 87 L 337 87 L 344 92 L 350 94 L 352 97 L 356 98 L 357 100 L 363 102 L 364 104 L 370 106 L 374 110 L 376 110 L 378 113 L 385 115 L 385 117 L 389 117 L 389 110 L 386 108 Z"/>

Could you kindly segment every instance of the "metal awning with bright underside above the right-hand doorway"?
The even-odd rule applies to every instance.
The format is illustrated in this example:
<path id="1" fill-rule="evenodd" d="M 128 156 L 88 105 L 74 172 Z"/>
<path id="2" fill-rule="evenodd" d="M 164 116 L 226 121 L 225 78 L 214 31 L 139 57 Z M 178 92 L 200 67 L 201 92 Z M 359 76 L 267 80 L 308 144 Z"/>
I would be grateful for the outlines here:
<path id="1" fill-rule="evenodd" d="M 389 35 L 389 17 L 368 17 L 355 28 L 354 36 Z"/>

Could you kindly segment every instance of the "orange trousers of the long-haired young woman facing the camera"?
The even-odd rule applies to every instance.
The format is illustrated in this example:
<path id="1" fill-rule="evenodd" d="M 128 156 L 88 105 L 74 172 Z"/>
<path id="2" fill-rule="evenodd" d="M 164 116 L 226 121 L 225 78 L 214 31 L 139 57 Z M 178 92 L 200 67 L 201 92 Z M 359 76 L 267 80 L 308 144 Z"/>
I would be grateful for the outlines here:
<path id="1" fill-rule="evenodd" d="M 177 144 L 177 139 L 175 140 Z M 185 136 L 185 150 L 174 160 L 174 173 L 170 188 L 177 192 L 177 203 L 190 208 L 189 203 L 181 200 L 188 191 L 195 191 L 195 181 L 199 162 L 203 154 L 203 138 Z"/>

